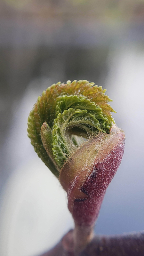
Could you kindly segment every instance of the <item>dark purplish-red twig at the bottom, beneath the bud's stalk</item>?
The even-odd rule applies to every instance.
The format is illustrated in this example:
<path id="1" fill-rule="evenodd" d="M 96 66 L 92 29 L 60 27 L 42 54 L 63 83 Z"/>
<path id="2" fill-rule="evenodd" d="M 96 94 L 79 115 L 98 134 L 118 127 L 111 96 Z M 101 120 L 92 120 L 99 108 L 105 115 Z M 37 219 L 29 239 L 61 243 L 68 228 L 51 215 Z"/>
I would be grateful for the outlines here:
<path id="1" fill-rule="evenodd" d="M 73 230 L 41 256 L 75 256 Z M 95 236 L 79 256 L 144 256 L 144 231 L 116 236 Z"/>

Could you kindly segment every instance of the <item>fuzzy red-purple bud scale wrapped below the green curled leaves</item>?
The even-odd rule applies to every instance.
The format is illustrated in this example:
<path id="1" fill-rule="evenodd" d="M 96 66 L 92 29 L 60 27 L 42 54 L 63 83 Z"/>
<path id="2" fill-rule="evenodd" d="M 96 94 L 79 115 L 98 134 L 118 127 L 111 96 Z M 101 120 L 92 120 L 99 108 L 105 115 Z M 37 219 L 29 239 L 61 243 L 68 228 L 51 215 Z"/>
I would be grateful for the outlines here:
<path id="1" fill-rule="evenodd" d="M 99 136 L 99 135 L 98 135 Z M 101 137 L 102 144 L 93 163 L 87 163 L 87 169 L 75 169 L 78 152 L 76 152 L 64 165 L 60 173 L 60 182 L 68 193 L 68 209 L 72 213 L 77 225 L 93 225 L 98 217 L 101 203 L 106 189 L 113 179 L 124 153 L 124 132 L 113 125 L 109 135 Z M 96 151 L 98 138 L 84 144 L 80 149 L 81 156 L 84 150 L 89 152 L 91 149 Z M 100 143 L 100 141 L 99 141 Z M 83 152 L 82 152 L 83 151 Z M 80 157 L 80 156 L 78 156 Z M 80 158 L 81 164 L 85 159 Z M 68 173 L 73 173 L 73 177 Z M 70 180 L 71 178 L 71 180 Z"/>

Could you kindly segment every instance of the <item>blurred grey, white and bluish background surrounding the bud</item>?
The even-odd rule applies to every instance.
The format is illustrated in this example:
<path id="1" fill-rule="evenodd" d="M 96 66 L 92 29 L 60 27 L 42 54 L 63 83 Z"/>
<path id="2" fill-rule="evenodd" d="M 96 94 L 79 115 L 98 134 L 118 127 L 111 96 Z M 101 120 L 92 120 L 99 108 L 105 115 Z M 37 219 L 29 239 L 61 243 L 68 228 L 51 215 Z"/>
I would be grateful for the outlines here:
<path id="1" fill-rule="evenodd" d="M 38 256 L 73 228 L 27 119 L 43 90 L 75 79 L 107 89 L 126 134 L 95 232 L 144 229 L 144 1 L 1 0 L 0 255 Z"/>

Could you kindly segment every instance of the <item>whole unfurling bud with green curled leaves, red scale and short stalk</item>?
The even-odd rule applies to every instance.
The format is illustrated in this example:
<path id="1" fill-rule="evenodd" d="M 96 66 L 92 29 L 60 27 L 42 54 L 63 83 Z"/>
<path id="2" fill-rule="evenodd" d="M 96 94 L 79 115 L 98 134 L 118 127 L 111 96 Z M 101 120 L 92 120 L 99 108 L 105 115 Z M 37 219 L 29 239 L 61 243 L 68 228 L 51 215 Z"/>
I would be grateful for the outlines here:
<path id="1" fill-rule="evenodd" d="M 105 92 L 87 80 L 58 82 L 38 97 L 28 117 L 31 144 L 67 191 L 80 241 L 75 239 L 76 250 L 92 237 L 124 153 L 124 132 L 115 124 Z"/>

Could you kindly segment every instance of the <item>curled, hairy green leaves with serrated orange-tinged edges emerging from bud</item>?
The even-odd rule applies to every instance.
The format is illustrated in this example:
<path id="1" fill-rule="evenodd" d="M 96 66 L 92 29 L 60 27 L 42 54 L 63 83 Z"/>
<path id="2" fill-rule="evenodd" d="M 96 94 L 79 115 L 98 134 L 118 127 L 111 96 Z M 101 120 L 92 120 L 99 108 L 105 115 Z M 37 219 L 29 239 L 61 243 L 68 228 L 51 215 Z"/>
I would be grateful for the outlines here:
<path id="1" fill-rule="evenodd" d="M 28 117 L 36 153 L 59 177 L 60 169 L 84 140 L 108 133 L 114 123 L 105 90 L 86 80 L 53 84 L 38 97 Z"/>

